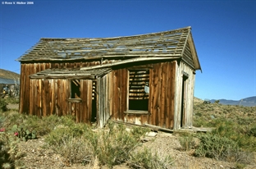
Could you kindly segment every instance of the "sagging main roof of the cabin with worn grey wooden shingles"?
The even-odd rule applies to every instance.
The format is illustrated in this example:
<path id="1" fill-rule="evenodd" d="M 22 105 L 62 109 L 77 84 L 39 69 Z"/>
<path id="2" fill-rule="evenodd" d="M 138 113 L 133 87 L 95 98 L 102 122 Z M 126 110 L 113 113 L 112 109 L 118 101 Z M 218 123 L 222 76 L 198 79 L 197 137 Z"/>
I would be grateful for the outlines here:
<path id="1" fill-rule="evenodd" d="M 75 60 L 137 57 L 182 57 L 189 43 L 195 70 L 200 70 L 191 27 L 153 34 L 115 38 L 40 39 L 34 47 L 17 59 L 20 62 L 68 62 Z M 143 60 L 140 58 L 139 60 Z"/>

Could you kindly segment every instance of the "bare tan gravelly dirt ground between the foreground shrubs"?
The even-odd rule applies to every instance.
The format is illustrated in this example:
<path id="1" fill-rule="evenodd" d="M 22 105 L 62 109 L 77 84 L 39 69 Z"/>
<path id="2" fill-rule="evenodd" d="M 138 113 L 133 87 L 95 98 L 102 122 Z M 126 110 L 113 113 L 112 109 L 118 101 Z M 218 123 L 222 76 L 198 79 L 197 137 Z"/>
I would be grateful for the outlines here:
<path id="1" fill-rule="evenodd" d="M 158 132 L 154 137 L 145 137 L 143 147 L 152 148 L 153 152 L 158 152 L 161 156 L 171 155 L 174 160 L 170 168 L 235 168 L 235 163 L 217 161 L 211 158 L 195 158 L 191 156 L 191 152 L 181 151 L 181 144 L 178 137 L 169 133 Z M 53 153 L 51 149 L 42 148 L 44 139 L 30 139 L 27 142 L 19 144 L 19 151 L 25 153 L 21 158 L 25 168 L 103 168 L 106 166 L 86 167 L 80 164 L 70 165 L 60 155 Z M 126 164 L 113 167 L 114 169 L 128 169 Z M 246 168 L 256 168 L 256 165 L 247 166 Z"/>

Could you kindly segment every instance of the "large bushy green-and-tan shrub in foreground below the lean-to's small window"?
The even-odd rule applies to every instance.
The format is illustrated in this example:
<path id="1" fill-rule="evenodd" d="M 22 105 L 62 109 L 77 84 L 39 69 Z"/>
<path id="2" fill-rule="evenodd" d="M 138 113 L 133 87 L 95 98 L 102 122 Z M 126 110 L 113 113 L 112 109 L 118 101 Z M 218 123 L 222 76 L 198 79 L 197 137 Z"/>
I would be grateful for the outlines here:
<path id="1" fill-rule="evenodd" d="M 90 141 L 94 134 L 89 130 L 89 126 L 75 124 L 68 116 L 60 118 L 62 123 L 58 121 L 45 138 L 44 148 L 52 148 L 71 164 L 93 162 L 94 146 Z"/>

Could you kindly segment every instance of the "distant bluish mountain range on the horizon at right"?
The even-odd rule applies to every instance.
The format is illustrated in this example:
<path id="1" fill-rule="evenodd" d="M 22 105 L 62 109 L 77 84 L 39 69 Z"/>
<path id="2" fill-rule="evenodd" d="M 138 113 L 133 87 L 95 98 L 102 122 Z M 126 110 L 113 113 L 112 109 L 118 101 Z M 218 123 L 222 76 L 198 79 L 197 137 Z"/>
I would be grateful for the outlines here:
<path id="1" fill-rule="evenodd" d="M 216 99 L 210 100 L 211 103 L 214 103 Z M 249 98 L 243 98 L 240 100 L 226 100 L 226 99 L 219 99 L 219 103 L 225 104 L 225 105 L 240 105 L 240 106 L 246 106 L 246 107 L 253 107 L 256 106 L 256 96 L 249 97 Z"/>

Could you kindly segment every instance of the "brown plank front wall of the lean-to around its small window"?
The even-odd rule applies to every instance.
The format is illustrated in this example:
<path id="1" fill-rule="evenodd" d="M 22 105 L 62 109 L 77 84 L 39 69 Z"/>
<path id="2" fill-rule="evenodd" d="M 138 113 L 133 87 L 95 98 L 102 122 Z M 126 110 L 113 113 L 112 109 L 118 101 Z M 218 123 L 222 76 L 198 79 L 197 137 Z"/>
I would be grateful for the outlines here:
<path id="1" fill-rule="evenodd" d="M 70 99 L 70 80 L 30 79 L 30 115 L 73 115 L 77 122 L 91 121 L 92 80 L 80 80 L 80 99 Z"/>

